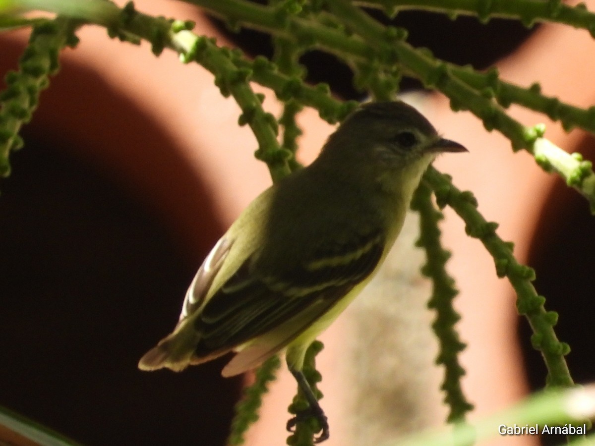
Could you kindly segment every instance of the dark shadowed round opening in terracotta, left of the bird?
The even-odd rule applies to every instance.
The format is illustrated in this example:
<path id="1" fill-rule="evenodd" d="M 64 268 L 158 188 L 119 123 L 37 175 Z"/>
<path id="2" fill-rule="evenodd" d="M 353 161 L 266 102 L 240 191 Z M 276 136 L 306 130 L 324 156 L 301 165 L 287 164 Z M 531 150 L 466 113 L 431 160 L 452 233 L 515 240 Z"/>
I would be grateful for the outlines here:
<path id="1" fill-rule="evenodd" d="M 137 369 L 223 229 L 211 199 L 95 73 L 51 87 L 0 182 L 0 404 L 88 445 L 223 445 L 241 377 Z"/>

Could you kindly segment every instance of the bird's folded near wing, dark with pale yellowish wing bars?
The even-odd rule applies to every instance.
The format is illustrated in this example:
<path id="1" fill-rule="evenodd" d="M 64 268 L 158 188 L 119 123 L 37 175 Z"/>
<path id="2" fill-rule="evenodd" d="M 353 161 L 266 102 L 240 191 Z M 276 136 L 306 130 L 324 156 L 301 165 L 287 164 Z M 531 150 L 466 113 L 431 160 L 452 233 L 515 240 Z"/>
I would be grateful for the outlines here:
<path id="1" fill-rule="evenodd" d="M 337 247 L 280 275 L 254 268 L 252 258 L 203 306 L 194 324 L 199 341 L 191 363 L 212 359 L 218 351 L 240 351 L 235 375 L 271 356 L 325 315 L 374 271 L 385 249 L 381 234 L 369 234 L 356 246 Z M 231 365 L 231 363 L 230 363 Z"/>

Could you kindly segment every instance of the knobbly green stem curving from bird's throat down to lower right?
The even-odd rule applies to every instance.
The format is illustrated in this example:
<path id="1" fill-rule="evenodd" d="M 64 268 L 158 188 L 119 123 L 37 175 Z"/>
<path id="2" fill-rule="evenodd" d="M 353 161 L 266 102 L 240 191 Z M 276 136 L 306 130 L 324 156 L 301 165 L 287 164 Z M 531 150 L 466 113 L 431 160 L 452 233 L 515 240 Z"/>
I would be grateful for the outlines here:
<path id="1" fill-rule="evenodd" d="M 450 178 L 430 167 L 424 181 L 434 190 L 439 206 L 449 205 L 465 221 L 468 235 L 478 238 L 494 259 L 498 277 L 507 277 L 516 291 L 516 308 L 524 315 L 531 329 L 531 343 L 541 352 L 547 367 L 546 384 L 549 387 L 574 385 L 564 356 L 569 353 L 568 344 L 556 337 L 553 326 L 558 314 L 547 312 L 545 299 L 538 296 L 533 284 L 535 272 L 519 264 L 512 253 L 512 244 L 506 243 L 496 234 L 497 224 L 487 222 L 477 211 L 477 200 L 468 191 L 462 192 L 453 186 Z"/>

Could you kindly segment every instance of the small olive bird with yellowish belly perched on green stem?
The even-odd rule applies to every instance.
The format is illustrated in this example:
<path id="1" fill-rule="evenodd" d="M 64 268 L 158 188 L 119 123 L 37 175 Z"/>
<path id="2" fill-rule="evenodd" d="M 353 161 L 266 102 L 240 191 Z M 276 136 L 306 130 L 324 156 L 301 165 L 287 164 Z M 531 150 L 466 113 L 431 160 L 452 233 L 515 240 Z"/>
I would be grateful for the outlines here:
<path id="1" fill-rule="evenodd" d="M 306 348 L 370 281 L 403 225 L 412 194 L 441 152 L 466 152 L 400 101 L 360 106 L 311 165 L 253 200 L 211 250 L 186 293 L 174 331 L 139 368 L 183 370 L 230 351 L 234 376 L 285 351 L 328 438 L 302 373 Z"/>

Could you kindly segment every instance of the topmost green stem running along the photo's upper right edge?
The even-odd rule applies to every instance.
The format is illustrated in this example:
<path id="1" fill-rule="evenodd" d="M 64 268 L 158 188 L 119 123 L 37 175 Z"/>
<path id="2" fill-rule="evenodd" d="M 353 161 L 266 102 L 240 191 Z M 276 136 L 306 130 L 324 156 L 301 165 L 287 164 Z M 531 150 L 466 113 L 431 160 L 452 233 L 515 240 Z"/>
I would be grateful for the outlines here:
<path id="1" fill-rule="evenodd" d="M 486 23 L 491 18 L 512 18 L 520 20 L 526 27 L 535 23 L 563 23 L 588 30 L 595 37 L 595 14 L 584 5 L 569 6 L 562 1 L 543 0 L 357 0 L 357 4 L 383 8 L 394 15 L 405 10 L 442 12 L 450 18 L 457 15 L 474 15 Z"/>

